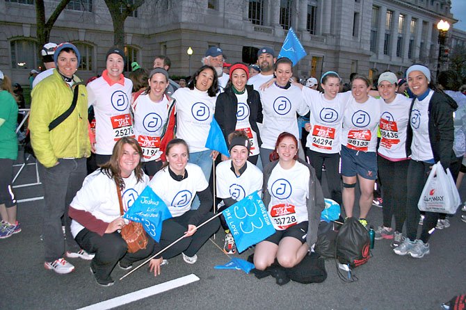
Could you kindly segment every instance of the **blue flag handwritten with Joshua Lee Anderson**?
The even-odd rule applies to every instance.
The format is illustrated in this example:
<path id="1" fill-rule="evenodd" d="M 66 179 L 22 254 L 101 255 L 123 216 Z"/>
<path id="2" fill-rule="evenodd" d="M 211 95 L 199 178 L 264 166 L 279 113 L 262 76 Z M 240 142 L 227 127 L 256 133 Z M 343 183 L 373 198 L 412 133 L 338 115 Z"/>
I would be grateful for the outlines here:
<path id="1" fill-rule="evenodd" d="M 171 217 L 172 213 L 165 202 L 154 193 L 150 186 L 144 188 L 143 193 L 140 193 L 138 199 L 123 215 L 123 218 L 127 220 L 142 223 L 147 234 L 156 242 L 160 241 L 162 222 Z"/>

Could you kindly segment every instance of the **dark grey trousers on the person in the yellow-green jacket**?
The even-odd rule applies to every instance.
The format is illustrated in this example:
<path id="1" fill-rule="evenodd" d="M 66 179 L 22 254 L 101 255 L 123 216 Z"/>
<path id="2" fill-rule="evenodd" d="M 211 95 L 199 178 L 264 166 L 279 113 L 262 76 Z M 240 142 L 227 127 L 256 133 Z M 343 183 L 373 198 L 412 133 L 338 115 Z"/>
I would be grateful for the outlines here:
<path id="1" fill-rule="evenodd" d="M 51 168 L 45 168 L 38 163 L 40 180 L 44 186 L 43 236 L 45 261 L 48 262 L 65 256 L 65 240 L 61 229 L 62 216 L 65 220 L 66 250 L 79 251 L 79 246 L 70 232 L 71 219 L 68 216 L 68 206 L 83 186 L 87 174 L 86 158 L 59 158 L 58 163 Z"/>

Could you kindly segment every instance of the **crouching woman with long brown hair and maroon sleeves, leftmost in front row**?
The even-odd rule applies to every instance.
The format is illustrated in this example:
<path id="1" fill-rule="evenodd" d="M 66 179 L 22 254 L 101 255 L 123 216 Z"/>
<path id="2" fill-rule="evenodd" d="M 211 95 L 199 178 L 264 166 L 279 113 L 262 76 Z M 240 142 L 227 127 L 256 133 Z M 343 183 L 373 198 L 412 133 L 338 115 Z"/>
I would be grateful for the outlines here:
<path id="1" fill-rule="evenodd" d="M 118 263 L 124 270 L 131 269 L 132 263 L 154 255 L 159 245 L 148 237 L 147 247 L 135 253 L 127 252 L 126 241 L 120 235 L 125 225 L 118 207 L 119 190 L 123 209 L 126 211 L 145 188 L 149 178 L 141 168 L 142 149 L 134 138 L 124 137 L 116 142 L 110 161 L 88 175 L 83 187 L 74 197 L 70 206 L 71 232 L 74 240 L 89 253 L 95 253 L 90 262 L 97 284 L 113 285 L 110 274 Z M 160 274 L 162 258 L 150 261 L 154 275 Z"/>

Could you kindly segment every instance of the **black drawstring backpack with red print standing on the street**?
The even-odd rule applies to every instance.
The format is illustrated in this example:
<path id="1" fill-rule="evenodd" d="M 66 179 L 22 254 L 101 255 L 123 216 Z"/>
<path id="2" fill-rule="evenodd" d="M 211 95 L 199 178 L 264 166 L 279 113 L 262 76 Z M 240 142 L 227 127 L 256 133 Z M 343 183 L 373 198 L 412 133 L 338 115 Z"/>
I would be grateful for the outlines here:
<path id="1" fill-rule="evenodd" d="M 339 263 L 356 268 L 369 261 L 370 245 L 369 231 L 357 218 L 347 218 L 335 240 L 335 257 Z"/>

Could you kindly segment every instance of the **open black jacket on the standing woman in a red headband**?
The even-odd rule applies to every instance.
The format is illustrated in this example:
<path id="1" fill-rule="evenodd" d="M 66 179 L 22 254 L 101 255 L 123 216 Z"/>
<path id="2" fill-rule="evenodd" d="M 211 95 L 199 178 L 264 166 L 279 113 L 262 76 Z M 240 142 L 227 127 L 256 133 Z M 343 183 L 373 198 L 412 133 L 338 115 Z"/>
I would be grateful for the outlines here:
<path id="1" fill-rule="evenodd" d="M 252 85 L 246 85 L 248 91 L 248 106 L 249 106 L 249 124 L 251 129 L 257 133 L 257 142 L 260 147 L 262 145 L 261 136 L 257 123 L 262 123 L 262 103 L 259 92 L 252 88 Z M 222 92 L 217 97 L 215 105 L 215 119 L 218 125 L 222 129 L 225 141 L 228 139 L 227 136 L 236 129 L 236 111 L 238 109 L 238 98 L 234 95 L 232 86 L 225 88 L 225 92 Z"/>

